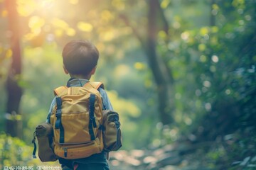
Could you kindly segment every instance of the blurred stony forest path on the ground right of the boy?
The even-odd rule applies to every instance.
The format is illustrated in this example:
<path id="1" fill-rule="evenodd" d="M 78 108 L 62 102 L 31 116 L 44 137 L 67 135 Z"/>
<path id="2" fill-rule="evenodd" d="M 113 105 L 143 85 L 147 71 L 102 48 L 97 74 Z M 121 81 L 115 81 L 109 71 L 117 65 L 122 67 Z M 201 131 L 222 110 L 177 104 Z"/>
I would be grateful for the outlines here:
<path id="1" fill-rule="evenodd" d="M 204 166 L 203 151 L 189 145 L 166 145 L 159 149 L 120 150 L 110 153 L 112 170 L 210 170 Z M 195 159 L 196 156 L 196 159 Z"/>

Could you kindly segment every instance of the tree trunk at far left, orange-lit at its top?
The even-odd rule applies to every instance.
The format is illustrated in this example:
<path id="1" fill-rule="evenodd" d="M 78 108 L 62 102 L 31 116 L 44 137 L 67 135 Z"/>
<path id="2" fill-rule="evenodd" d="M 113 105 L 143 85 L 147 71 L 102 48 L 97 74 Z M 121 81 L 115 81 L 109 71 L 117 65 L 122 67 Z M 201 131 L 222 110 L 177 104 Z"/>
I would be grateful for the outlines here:
<path id="1" fill-rule="evenodd" d="M 22 89 L 18 86 L 18 78 L 21 75 L 21 50 L 19 45 L 18 13 L 16 1 L 6 1 L 8 11 L 9 31 L 11 33 L 12 62 L 6 80 L 6 133 L 13 137 L 21 137 L 21 113 L 19 112 Z"/>

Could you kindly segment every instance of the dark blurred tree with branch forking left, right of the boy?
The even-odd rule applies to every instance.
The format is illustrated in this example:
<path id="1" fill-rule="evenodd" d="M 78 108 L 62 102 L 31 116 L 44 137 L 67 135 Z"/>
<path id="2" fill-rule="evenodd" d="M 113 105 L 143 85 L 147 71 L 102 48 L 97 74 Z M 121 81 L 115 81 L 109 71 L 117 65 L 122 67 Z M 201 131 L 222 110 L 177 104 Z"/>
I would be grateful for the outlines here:
<path id="1" fill-rule="evenodd" d="M 171 68 L 168 67 L 164 56 L 159 55 L 156 51 L 157 35 L 159 31 L 164 30 L 166 36 L 169 35 L 169 23 L 164 16 L 159 1 L 149 0 L 147 11 L 147 24 L 144 25 L 146 33 L 144 36 L 138 33 L 138 28 L 132 26 L 131 21 L 126 15 L 120 13 L 127 26 L 131 27 L 134 35 L 142 45 L 142 49 L 146 54 L 149 67 L 156 83 L 156 93 L 158 94 L 159 118 L 164 125 L 173 123 L 172 113 L 174 113 L 175 105 L 172 99 L 174 89 L 174 78 Z M 141 25 L 137 25 L 141 26 Z"/>

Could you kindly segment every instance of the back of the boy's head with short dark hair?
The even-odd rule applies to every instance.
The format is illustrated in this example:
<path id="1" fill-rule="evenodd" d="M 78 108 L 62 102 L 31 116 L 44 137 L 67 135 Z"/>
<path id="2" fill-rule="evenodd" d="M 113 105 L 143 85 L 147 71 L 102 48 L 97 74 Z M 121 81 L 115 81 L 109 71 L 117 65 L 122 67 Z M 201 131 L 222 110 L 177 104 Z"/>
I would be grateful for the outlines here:
<path id="1" fill-rule="evenodd" d="M 71 75 L 89 75 L 97 66 L 99 51 L 87 40 L 72 40 L 63 48 L 63 64 Z"/>

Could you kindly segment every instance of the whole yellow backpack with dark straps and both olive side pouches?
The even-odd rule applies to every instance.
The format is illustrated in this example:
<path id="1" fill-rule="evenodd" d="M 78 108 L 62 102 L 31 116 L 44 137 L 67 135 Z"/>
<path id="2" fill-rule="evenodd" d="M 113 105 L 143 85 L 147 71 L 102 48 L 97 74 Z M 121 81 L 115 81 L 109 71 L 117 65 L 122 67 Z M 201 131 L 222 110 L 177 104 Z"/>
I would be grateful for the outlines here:
<path id="1" fill-rule="evenodd" d="M 100 87 L 104 89 L 102 83 L 88 82 L 82 87 L 60 86 L 54 90 L 56 106 L 48 115 L 50 124 L 38 125 L 52 128 L 41 137 L 38 132 L 41 128 L 36 127 L 33 157 L 36 157 L 36 137 L 42 162 L 55 161 L 56 157 L 85 158 L 102 149 L 110 152 L 122 147 L 119 115 L 114 111 L 102 111 Z"/>

